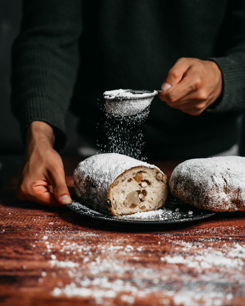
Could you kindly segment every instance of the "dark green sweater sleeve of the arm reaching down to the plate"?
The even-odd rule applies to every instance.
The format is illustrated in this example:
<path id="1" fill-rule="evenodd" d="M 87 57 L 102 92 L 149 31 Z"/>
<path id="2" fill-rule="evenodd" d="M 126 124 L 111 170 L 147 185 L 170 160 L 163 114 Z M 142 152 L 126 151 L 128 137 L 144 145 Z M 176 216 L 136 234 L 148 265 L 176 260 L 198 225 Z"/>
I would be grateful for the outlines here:
<path id="1" fill-rule="evenodd" d="M 78 68 L 81 0 L 24 0 L 21 32 L 12 47 L 11 108 L 21 135 L 32 121 L 55 130 L 55 148 L 66 142 L 65 115 Z"/>

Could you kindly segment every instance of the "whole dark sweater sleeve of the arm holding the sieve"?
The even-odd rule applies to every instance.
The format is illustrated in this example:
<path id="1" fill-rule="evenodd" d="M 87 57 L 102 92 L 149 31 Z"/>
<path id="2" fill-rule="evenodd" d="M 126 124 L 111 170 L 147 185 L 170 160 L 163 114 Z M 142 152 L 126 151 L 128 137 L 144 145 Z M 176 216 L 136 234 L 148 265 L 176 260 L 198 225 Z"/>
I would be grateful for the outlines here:
<path id="1" fill-rule="evenodd" d="M 220 98 L 208 111 L 226 112 L 245 109 L 245 1 L 230 0 L 220 31 L 227 48 L 221 56 L 207 58 L 221 70 L 223 89 Z M 217 47 L 219 40 L 217 39 Z"/>

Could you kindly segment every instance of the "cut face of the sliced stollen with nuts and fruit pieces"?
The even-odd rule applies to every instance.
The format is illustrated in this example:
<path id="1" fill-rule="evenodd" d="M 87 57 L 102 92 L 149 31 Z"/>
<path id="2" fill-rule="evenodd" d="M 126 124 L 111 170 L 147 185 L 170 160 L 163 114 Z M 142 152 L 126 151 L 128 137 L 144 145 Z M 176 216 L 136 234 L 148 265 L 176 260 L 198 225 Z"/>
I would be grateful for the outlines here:
<path id="1" fill-rule="evenodd" d="M 108 192 L 113 215 L 156 210 L 166 202 L 167 179 L 156 168 L 134 167 L 115 179 Z"/>

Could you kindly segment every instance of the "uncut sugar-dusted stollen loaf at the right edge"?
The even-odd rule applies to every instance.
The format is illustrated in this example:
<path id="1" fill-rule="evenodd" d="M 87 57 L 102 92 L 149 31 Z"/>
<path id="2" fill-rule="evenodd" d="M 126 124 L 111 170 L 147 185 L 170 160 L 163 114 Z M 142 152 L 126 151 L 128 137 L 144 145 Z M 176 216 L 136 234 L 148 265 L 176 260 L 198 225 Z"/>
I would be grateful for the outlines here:
<path id="1" fill-rule="evenodd" d="M 210 211 L 245 211 L 245 157 L 190 159 L 170 178 L 174 196 Z"/>

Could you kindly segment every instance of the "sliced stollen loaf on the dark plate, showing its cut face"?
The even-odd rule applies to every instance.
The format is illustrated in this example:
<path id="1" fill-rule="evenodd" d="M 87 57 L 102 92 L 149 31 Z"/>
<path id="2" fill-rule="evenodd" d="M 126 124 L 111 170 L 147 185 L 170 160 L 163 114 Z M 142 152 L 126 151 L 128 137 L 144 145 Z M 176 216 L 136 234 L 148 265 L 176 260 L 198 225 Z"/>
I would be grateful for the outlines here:
<path id="1" fill-rule="evenodd" d="M 76 196 L 111 215 L 163 207 L 168 179 L 154 165 L 117 153 L 93 155 L 73 174 Z"/>

